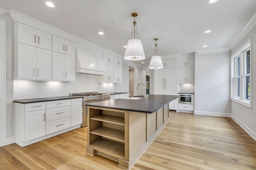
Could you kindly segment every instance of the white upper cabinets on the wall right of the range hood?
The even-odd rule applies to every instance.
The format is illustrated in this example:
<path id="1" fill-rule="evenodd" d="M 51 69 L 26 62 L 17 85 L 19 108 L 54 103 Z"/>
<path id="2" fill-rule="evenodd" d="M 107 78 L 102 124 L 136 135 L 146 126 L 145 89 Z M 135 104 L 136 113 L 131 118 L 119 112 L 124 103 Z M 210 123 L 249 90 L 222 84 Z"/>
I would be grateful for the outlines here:
<path id="1" fill-rule="evenodd" d="M 98 76 L 98 83 L 122 83 L 122 59 L 104 53 L 106 76 Z"/>

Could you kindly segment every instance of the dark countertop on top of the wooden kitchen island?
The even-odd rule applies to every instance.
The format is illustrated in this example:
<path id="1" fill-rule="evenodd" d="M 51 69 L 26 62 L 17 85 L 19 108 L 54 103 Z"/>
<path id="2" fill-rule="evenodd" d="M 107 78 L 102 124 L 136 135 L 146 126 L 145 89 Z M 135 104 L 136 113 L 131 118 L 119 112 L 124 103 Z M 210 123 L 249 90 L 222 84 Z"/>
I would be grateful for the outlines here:
<path id="1" fill-rule="evenodd" d="M 143 96 L 143 95 L 142 95 Z M 136 111 L 142 113 L 153 113 L 172 100 L 178 98 L 179 95 L 154 95 L 150 94 L 148 98 L 132 100 L 132 99 L 115 99 L 100 102 L 87 103 L 86 106 L 102 107 L 109 109 L 118 109 L 126 111 Z"/>

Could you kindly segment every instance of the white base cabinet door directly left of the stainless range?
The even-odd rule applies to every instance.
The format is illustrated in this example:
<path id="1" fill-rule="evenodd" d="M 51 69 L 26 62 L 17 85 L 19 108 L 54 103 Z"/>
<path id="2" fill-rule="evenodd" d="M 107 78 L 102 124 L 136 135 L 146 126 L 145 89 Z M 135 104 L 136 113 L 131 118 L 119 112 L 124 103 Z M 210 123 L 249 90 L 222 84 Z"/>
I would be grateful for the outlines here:
<path id="1" fill-rule="evenodd" d="M 71 127 L 83 123 L 83 99 L 71 100 Z"/>

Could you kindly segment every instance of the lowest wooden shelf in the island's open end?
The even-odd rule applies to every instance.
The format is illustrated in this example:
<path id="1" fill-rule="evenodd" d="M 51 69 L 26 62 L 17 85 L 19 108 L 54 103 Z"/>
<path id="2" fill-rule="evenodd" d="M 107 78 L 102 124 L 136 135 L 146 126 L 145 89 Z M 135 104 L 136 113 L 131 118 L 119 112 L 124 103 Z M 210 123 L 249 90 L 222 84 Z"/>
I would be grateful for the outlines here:
<path id="1" fill-rule="evenodd" d="M 97 147 L 98 149 L 106 150 L 112 154 L 124 157 L 124 144 L 108 139 L 99 139 L 92 143 L 90 146 Z"/>

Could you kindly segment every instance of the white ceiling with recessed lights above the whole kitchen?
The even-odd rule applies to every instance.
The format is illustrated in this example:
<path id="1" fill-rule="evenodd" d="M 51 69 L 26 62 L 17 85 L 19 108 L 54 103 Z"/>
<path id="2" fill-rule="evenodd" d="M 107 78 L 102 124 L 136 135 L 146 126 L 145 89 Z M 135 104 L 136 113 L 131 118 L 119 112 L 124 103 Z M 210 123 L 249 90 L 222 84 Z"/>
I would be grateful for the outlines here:
<path id="1" fill-rule="evenodd" d="M 131 37 L 133 12 L 148 67 L 158 38 L 159 54 L 187 54 L 228 48 L 256 13 L 256 0 L 0 0 L 16 10 L 92 43 L 124 55 Z M 211 33 L 204 33 L 206 30 Z M 104 32 L 99 35 L 98 32 Z M 207 47 L 202 47 L 207 45 Z"/>

